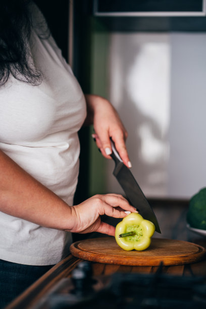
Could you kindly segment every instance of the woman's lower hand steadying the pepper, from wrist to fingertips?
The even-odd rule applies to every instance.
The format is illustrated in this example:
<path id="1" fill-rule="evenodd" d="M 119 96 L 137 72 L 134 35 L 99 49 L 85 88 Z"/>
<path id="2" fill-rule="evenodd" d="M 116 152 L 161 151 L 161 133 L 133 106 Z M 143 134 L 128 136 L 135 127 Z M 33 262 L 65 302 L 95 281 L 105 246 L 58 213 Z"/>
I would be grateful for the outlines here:
<path id="1" fill-rule="evenodd" d="M 127 216 L 125 211 L 137 212 L 120 194 L 97 194 L 71 207 L 71 210 L 74 225 L 70 228 L 70 232 L 99 232 L 111 236 L 115 235 L 115 227 L 102 222 L 101 215 L 124 218 Z"/>

